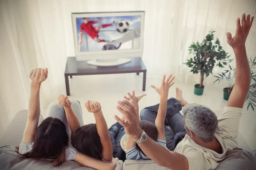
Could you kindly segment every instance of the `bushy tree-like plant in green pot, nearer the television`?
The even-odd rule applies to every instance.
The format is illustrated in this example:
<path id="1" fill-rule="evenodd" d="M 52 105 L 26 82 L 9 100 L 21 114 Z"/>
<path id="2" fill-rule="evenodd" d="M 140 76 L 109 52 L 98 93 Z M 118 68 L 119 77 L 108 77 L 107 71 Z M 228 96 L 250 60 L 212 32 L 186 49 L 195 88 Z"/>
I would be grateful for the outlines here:
<path id="1" fill-rule="evenodd" d="M 203 42 L 193 42 L 189 46 L 189 54 L 193 54 L 194 57 L 184 63 L 192 68 L 191 72 L 194 74 L 201 74 L 200 84 L 195 85 L 194 93 L 196 95 L 202 95 L 204 92 L 204 75 L 208 77 L 209 74 L 212 74 L 214 66 L 223 68 L 223 65 L 227 65 L 227 53 L 223 50 L 218 38 L 215 39 L 214 32 L 213 30 L 209 31 Z"/>

